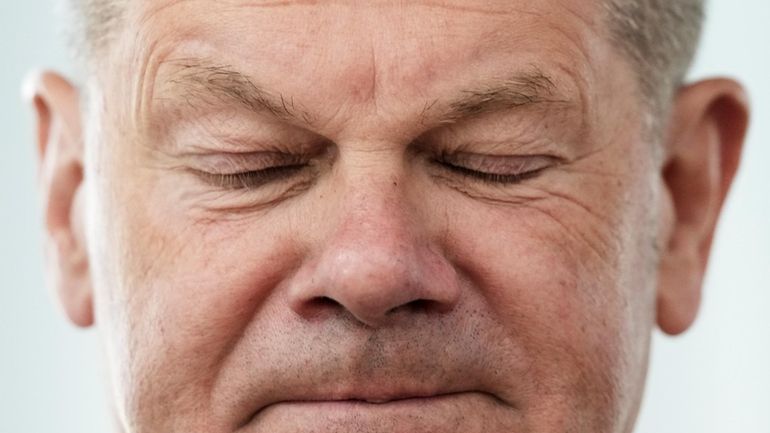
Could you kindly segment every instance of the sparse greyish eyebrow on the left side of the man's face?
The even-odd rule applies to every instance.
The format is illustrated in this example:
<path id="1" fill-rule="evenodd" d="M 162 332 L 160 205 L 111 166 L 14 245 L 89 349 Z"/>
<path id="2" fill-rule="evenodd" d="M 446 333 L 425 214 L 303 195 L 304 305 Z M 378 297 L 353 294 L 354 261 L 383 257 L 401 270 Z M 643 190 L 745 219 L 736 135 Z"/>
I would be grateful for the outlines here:
<path id="1" fill-rule="evenodd" d="M 214 97 L 220 102 L 235 103 L 254 112 L 267 112 L 283 120 L 313 123 L 313 117 L 299 108 L 293 97 L 268 92 L 230 65 L 205 63 L 198 59 L 175 59 L 166 63 L 174 67 L 174 71 L 165 83 L 178 88 L 190 105 Z"/>

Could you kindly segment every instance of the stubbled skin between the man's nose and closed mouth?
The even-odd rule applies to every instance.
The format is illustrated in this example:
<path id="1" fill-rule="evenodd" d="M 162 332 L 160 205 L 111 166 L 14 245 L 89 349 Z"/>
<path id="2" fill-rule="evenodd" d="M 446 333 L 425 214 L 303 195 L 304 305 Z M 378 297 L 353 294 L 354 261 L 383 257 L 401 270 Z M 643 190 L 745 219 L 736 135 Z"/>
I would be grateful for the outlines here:
<path id="1" fill-rule="evenodd" d="M 497 333 L 451 318 L 441 326 L 409 325 L 374 333 L 337 322 L 296 325 L 298 330 L 259 328 L 253 343 L 229 355 L 212 405 L 234 427 L 286 403 L 383 404 L 467 393 L 517 405 L 519 391 L 507 384 L 529 367 L 518 352 L 503 350 Z M 447 336 L 443 329 L 450 327 L 459 331 Z"/>

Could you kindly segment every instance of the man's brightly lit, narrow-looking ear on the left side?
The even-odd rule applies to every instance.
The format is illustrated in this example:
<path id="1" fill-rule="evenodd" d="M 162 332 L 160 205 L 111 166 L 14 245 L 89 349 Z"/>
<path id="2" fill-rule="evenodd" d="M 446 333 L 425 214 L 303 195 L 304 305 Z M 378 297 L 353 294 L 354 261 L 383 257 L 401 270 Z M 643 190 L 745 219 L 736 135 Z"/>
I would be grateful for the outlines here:
<path id="1" fill-rule="evenodd" d="M 37 117 L 48 277 L 70 320 L 87 327 L 94 318 L 83 231 L 83 140 L 78 92 L 61 76 L 43 72 L 26 80 L 25 97 Z"/>

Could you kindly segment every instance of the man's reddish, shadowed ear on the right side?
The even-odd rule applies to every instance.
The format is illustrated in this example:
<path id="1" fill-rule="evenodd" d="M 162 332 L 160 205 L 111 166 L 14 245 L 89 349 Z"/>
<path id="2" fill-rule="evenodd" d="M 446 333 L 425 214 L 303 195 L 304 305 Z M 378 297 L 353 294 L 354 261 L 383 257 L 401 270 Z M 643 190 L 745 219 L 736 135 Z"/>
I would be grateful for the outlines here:
<path id="1" fill-rule="evenodd" d="M 732 184 L 748 126 L 743 88 L 702 81 L 676 95 L 662 179 L 668 216 L 657 292 L 657 322 L 676 335 L 695 321 L 717 220 Z"/>

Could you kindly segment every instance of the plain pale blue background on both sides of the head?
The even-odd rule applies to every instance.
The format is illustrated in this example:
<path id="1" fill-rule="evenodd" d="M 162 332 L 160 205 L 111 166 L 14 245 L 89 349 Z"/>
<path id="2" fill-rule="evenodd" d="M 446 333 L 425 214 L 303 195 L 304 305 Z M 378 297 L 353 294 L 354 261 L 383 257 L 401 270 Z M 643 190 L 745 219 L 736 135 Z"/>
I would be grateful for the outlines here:
<path id="1" fill-rule="evenodd" d="M 73 329 L 44 285 L 25 72 L 72 73 L 51 0 L 0 0 L 0 433 L 106 433 L 94 331 Z M 770 3 L 711 2 L 693 77 L 745 83 L 753 124 L 716 240 L 703 309 L 655 336 L 637 433 L 770 432 Z"/>

